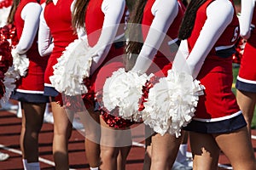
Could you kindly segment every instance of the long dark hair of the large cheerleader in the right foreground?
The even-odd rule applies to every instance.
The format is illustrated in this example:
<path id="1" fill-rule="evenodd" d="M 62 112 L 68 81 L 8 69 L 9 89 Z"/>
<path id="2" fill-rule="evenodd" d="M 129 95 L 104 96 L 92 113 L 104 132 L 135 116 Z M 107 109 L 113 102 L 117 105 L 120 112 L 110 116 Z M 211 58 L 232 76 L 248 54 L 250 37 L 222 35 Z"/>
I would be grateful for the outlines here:
<path id="1" fill-rule="evenodd" d="M 183 21 L 178 32 L 178 38 L 184 40 L 190 37 L 195 25 L 196 12 L 198 8 L 200 8 L 201 5 L 206 2 L 207 0 L 191 0 L 189 2 L 188 8 L 185 11 Z"/>

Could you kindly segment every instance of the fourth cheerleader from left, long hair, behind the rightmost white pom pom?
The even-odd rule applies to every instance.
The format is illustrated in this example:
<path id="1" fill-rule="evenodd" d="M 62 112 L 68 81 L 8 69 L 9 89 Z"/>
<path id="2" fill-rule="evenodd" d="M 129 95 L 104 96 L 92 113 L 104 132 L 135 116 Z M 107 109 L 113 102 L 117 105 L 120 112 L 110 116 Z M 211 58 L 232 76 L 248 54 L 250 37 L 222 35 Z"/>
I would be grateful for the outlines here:
<path id="1" fill-rule="evenodd" d="M 183 4 L 176 0 L 137 1 L 130 22 L 142 24 L 142 30 L 135 29 L 134 32 L 134 28 L 130 28 L 127 53 L 131 54 L 131 59 L 127 59 L 127 70 L 138 74 L 154 73 L 156 77 L 167 76 L 179 45 L 177 32 L 183 12 Z M 142 40 L 136 39 L 141 32 Z M 151 132 L 146 128 L 149 138 L 146 139 L 144 169 L 172 169 L 182 137 L 176 138 L 170 133 L 152 135 Z M 182 165 L 178 168 L 190 169 Z"/>

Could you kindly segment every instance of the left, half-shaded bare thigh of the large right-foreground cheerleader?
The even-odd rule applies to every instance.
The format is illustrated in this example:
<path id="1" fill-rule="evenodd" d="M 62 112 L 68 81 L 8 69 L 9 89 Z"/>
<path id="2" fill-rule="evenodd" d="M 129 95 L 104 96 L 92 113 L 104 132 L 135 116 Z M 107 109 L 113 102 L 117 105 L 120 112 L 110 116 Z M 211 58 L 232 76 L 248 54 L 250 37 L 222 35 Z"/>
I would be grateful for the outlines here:
<path id="1" fill-rule="evenodd" d="M 189 132 L 189 141 L 193 154 L 193 169 L 216 170 L 220 150 L 212 135 Z"/>

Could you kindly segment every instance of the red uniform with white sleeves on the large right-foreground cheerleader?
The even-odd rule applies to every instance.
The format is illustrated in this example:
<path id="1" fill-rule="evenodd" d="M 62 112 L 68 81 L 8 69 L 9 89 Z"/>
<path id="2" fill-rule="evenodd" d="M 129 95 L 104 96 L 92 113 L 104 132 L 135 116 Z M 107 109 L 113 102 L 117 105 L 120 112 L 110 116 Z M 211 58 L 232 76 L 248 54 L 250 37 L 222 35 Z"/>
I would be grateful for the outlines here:
<path id="1" fill-rule="evenodd" d="M 223 20 L 217 19 L 220 16 Z M 231 54 L 238 36 L 239 23 L 231 1 L 208 0 L 197 10 L 191 36 L 181 42 L 180 48 L 189 49 L 187 62 L 191 74 L 206 89 L 200 96 L 193 121 L 185 129 L 224 133 L 246 126 L 231 91 Z"/>

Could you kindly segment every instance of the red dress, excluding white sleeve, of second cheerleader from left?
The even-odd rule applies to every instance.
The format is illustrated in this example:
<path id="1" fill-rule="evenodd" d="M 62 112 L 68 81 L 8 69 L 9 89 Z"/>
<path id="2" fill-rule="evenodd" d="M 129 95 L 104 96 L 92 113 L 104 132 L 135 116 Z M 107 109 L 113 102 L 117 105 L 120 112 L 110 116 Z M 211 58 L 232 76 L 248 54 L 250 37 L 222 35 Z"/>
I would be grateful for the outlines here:
<path id="1" fill-rule="evenodd" d="M 61 1 L 64 0 L 58 0 L 56 4 L 50 2 L 46 4 L 44 8 L 44 19 L 47 26 L 49 26 L 49 31 L 54 42 L 54 48 L 49 56 L 48 65 L 44 75 L 44 95 L 48 96 L 59 95 L 49 81 L 49 77 L 53 76 L 53 66 L 57 63 L 57 59 L 61 57 L 62 52 L 68 44 L 78 38 L 78 36 L 74 34 L 72 28 L 70 6 L 73 3 L 73 0 L 65 0 L 65 3 L 62 3 Z"/>

